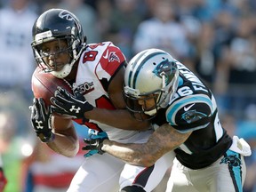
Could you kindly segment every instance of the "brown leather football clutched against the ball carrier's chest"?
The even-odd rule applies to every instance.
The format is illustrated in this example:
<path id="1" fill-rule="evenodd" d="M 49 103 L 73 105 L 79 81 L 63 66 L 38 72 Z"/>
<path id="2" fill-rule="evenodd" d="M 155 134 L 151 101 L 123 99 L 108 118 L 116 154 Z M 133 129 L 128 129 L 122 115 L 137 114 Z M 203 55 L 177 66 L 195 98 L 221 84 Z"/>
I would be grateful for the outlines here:
<path id="1" fill-rule="evenodd" d="M 67 81 L 45 73 L 43 69 L 37 67 L 31 79 L 32 92 L 35 98 L 43 98 L 46 106 L 52 105 L 50 98 L 54 96 L 57 87 L 60 86 L 73 94 L 71 85 Z"/>

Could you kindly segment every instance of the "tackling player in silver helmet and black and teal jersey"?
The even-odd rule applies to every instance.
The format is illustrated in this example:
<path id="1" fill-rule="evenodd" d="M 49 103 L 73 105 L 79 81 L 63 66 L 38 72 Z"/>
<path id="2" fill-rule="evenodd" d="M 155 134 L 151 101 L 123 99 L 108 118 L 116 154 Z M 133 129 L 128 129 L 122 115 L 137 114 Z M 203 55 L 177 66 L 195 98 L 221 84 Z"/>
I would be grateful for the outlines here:
<path id="1" fill-rule="evenodd" d="M 228 135 L 212 92 L 188 68 L 162 50 L 139 52 L 125 70 L 124 94 L 132 114 L 147 114 L 156 131 L 143 144 L 85 140 L 84 149 L 143 166 L 174 150 L 166 192 L 243 191 L 251 148 Z"/>

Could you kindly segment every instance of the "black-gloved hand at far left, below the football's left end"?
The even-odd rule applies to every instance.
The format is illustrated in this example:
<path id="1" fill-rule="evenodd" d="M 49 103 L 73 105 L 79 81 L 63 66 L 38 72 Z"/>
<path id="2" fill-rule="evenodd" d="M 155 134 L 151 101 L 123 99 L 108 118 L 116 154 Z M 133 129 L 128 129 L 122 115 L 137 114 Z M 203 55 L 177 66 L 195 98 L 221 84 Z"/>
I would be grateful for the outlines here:
<path id="1" fill-rule="evenodd" d="M 54 138 L 52 133 L 52 110 L 50 107 L 46 108 L 42 98 L 33 100 L 33 105 L 29 106 L 31 110 L 31 123 L 34 127 L 37 137 L 42 142 L 51 142 Z"/>

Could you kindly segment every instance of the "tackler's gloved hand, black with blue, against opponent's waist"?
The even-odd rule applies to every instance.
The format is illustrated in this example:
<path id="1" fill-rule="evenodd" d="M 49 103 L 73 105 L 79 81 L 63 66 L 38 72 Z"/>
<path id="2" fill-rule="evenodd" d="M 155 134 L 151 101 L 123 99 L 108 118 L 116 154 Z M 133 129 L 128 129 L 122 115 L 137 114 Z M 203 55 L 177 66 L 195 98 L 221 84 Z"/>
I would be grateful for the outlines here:
<path id="1" fill-rule="evenodd" d="M 108 135 L 106 132 L 95 132 L 94 130 L 89 130 L 89 138 L 84 139 L 84 143 L 86 144 L 82 149 L 89 150 L 85 157 L 93 156 L 94 154 L 102 155 L 105 151 L 101 150 L 103 140 L 108 139 Z"/>

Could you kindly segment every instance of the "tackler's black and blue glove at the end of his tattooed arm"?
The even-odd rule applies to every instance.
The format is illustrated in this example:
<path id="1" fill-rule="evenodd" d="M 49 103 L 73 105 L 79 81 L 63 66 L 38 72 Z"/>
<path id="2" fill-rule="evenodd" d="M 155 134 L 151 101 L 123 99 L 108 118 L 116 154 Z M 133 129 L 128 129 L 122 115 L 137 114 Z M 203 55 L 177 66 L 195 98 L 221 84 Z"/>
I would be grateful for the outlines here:
<path id="1" fill-rule="evenodd" d="M 95 139 L 84 139 L 84 143 L 86 144 L 86 146 L 84 146 L 82 149 L 93 151 L 93 154 L 95 154 L 96 151 L 100 155 L 104 154 L 105 151 L 103 151 L 101 148 L 103 145 L 103 140 L 108 139 L 107 134 L 106 134 L 106 136 L 104 135 L 103 137 L 100 136 L 100 137 L 94 137 L 94 138 Z M 85 156 L 86 156 L 86 154 L 85 154 Z"/>

